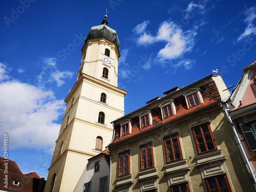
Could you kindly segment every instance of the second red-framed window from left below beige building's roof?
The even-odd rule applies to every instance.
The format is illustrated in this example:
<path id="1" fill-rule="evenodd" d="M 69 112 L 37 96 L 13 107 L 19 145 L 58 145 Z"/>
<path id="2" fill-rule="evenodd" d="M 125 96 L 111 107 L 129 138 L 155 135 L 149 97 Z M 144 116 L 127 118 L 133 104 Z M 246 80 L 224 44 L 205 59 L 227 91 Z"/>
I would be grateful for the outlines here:
<path id="1" fill-rule="evenodd" d="M 154 167 L 152 143 L 140 146 L 140 169 Z"/>

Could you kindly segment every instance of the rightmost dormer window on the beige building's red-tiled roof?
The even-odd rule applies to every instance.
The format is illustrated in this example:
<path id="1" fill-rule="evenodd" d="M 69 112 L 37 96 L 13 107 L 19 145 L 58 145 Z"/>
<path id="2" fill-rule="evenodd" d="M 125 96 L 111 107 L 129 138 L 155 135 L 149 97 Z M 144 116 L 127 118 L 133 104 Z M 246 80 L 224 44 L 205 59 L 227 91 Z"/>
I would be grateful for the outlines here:
<path id="1" fill-rule="evenodd" d="M 187 103 L 187 108 L 193 108 L 200 103 L 203 103 L 203 98 L 199 88 L 189 89 L 184 95 Z"/>

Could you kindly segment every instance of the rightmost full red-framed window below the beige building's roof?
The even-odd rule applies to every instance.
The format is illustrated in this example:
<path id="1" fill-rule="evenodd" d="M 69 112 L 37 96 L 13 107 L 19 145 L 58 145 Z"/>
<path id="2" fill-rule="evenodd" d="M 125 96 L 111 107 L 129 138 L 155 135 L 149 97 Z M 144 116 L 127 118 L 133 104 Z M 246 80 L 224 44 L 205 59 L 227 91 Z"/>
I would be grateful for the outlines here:
<path id="1" fill-rule="evenodd" d="M 211 133 L 210 126 L 206 123 L 192 129 L 198 154 L 215 151 L 216 143 Z"/>

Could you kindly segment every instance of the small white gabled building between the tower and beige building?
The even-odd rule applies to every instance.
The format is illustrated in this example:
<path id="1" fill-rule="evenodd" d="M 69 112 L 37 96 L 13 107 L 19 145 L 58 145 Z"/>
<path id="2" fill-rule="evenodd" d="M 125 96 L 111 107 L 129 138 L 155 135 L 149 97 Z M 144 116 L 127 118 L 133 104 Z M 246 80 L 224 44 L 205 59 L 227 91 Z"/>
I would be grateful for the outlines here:
<path id="1" fill-rule="evenodd" d="M 109 191 L 110 154 L 107 150 L 88 159 L 75 192 Z"/>

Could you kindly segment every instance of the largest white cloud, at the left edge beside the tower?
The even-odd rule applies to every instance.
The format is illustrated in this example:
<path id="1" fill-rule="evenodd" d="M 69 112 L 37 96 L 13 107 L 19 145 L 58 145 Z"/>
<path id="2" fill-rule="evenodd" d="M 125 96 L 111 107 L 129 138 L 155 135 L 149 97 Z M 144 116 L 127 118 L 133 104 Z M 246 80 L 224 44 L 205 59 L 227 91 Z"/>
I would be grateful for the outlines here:
<path id="1" fill-rule="evenodd" d="M 6 68 L 3 65 L 0 69 Z M 0 83 L 0 130 L 9 147 L 53 149 L 65 103 L 54 93 L 16 80 Z"/>

